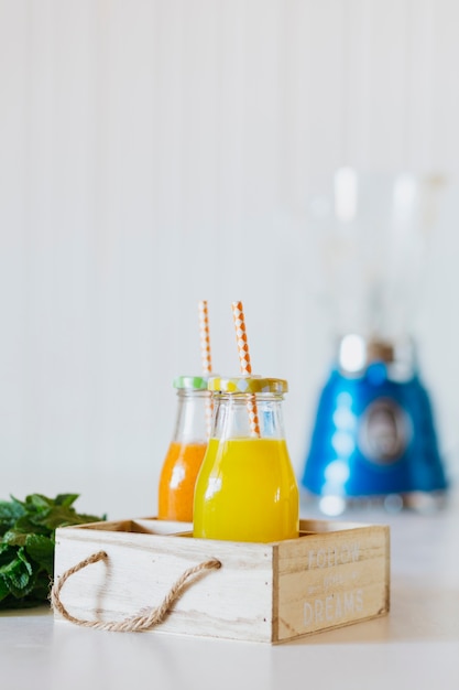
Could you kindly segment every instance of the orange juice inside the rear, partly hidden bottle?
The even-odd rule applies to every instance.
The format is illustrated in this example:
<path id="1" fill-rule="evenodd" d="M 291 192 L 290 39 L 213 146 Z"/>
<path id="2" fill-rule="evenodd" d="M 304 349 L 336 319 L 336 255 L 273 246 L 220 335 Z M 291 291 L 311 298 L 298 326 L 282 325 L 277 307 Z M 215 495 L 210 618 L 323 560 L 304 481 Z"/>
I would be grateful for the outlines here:
<path id="1" fill-rule="evenodd" d="M 193 521 L 193 497 L 196 477 L 206 443 L 173 441 L 160 476 L 157 517 L 162 520 Z"/>

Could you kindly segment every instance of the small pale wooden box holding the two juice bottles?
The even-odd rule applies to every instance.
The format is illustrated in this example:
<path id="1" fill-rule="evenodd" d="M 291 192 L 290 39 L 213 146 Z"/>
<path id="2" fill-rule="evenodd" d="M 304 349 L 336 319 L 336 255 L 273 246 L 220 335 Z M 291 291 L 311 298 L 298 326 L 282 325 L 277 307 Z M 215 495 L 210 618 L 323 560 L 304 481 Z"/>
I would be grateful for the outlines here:
<path id="1" fill-rule="evenodd" d="M 386 526 L 302 520 L 297 539 L 274 543 L 195 539 L 190 529 L 155 518 L 57 529 L 55 586 L 80 561 L 107 554 L 66 579 L 62 604 L 78 622 L 120 622 L 157 607 L 190 567 L 218 559 L 153 632 L 282 643 L 389 612 Z"/>

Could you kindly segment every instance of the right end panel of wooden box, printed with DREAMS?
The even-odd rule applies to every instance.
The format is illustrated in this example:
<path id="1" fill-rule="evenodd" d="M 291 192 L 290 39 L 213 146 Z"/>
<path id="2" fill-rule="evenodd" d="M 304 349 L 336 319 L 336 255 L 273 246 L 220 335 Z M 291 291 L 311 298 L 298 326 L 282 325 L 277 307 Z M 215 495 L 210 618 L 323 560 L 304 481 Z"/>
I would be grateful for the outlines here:
<path id="1" fill-rule="evenodd" d="M 324 533 L 280 545 L 274 639 L 386 614 L 389 548 L 389 528 L 345 526 L 334 531 L 332 524 Z"/>

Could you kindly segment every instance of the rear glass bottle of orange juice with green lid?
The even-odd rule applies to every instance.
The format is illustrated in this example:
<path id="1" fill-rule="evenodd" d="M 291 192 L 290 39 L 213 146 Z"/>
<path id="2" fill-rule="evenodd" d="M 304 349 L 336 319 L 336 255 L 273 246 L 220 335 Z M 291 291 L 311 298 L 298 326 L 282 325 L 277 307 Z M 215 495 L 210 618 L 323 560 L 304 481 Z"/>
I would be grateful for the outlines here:
<path id="1" fill-rule="evenodd" d="M 207 449 L 210 393 L 207 378 L 179 376 L 175 429 L 160 474 L 157 517 L 162 520 L 193 521 L 196 477 Z"/>

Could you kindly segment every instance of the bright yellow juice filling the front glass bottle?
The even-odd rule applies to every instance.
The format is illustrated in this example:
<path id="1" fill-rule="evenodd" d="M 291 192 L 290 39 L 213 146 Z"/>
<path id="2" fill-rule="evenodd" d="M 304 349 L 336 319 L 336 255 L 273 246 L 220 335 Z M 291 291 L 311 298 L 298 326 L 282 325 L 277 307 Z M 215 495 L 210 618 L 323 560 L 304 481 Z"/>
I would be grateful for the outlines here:
<path id="1" fill-rule="evenodd" d="M 294 539 L 298 513 L 298 487 L 284 440 L 210 439 L 195 487 L 194 537 Z"/>

